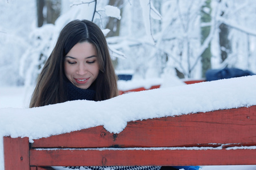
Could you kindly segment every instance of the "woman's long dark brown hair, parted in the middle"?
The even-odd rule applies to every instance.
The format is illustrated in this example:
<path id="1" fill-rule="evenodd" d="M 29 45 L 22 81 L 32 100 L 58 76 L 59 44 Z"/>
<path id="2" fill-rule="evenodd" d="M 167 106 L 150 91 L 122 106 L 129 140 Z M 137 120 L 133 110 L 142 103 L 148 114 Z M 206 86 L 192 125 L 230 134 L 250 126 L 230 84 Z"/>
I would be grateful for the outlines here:
<path id="1" fill-rule="evenodd" d="M 100 73 L 95 80 L 96 101 L 118 95 L 117 77 L 110 58 L 108 44 L 101 29 L 89 20 L 73 20 L 60 32 L 55 48 L 38 77 L 30 108 L 67 101 L 65 95 L 64 57 L 78 42 L 89 42 L 96 47 Z"/>

